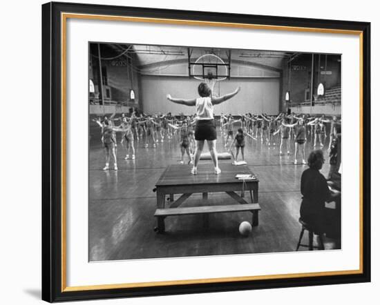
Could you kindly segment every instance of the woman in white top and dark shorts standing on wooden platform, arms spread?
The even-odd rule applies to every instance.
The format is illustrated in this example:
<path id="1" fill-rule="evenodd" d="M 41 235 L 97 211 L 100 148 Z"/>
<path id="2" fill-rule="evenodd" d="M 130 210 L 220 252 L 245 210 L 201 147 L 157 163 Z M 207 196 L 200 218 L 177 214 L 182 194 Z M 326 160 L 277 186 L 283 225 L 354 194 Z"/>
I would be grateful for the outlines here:
<path id="1" fill-rule="evenodd" d="M 231 92 L 222 97 L 211 97 L 211 89 L 207 86 L 207 83 L 200 83 L 198 86 L 198 99 L 174 99 L 171 95 L 167 95 L 169 101 L 173 101 L 176 104 L 182 104 L 186 106 L 196 106 L 196 153 L 194 156 L 194 164 L 191 169 L 193 175 L 197 174 L 197 166 L 202 153 L 205 140 L 209 146 L 211 159 L 215 168 L 215 174 L 220 174 L 220 168 L 218 166 L 218 155 L 216 153 L 216 124 L 213 120 L 213 105 L 227 101 L 238 94 L 240 87 L 236 88 L 234 92 Z"/>

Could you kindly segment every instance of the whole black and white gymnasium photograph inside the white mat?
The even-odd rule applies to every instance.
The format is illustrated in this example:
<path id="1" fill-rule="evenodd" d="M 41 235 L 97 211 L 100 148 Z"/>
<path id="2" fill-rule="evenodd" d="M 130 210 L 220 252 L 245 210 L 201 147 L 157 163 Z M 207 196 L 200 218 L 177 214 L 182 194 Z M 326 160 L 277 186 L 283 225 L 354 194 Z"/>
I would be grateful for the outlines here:
<path id="1" fill-rule="evenodd" d="M 341 61 L 89 42 L 88 261 L 340 250 Z"/>

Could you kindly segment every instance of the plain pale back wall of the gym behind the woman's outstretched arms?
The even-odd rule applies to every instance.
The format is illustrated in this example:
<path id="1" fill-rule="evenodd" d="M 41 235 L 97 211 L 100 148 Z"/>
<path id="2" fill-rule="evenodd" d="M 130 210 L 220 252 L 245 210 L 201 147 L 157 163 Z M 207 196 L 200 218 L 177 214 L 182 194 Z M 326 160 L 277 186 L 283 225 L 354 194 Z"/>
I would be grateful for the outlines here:
<path id="1" fill-rule="evenodd" d="M 277 114 L 279 111 L 280 78 L 231 78 L 217 82 L 214 92 L 218 95 L 234 91 L 241 87 L 236 97 L 215 107 L 216 115 L 220 112 L 240 115 L 243 113 Z M 195 108 L 174 104 L 167 99 L 172 97 L 191 99 L 199 97 L 198 85 L 200 81 L 189 77 L 140 75 L 140 100 L 142 109 L 147 114 L 183 112 L 190 115 Z"/>

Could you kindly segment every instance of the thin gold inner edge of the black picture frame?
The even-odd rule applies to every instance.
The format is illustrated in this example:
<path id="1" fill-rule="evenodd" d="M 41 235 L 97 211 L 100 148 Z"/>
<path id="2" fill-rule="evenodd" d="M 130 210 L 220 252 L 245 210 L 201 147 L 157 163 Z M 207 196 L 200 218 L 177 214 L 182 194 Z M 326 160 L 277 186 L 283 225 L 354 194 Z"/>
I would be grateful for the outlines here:
<path id="1" fill-rule="evenodd" d="M 102 21 L 128 21 L 143 23 L 177 24 L 184 26 L 213 26 L 225 28 L 247 28 L 256 30 L 283 30 L 289 32 L 320 32 L 330 34 L 359 35 L 359 269 L 322 271 L 314 273 L 289 273 L 279 275 L 254 275 L 245 277 L 219 277 L 209 279 L 180 279 L 162 282 L 136 282 L 125 284 L 102 284 L 89 286 L 66 286 L 66 21 L 67 19 L 92 19 Z M 194 21 L 183 19 L 161 19 L 146 17 L 125 17 L 99 14 L 77 14 L 61 12 L 61 292 L 95 291 L 102 289 L 138 288 L 189 284 L 210 284 L 223 282 L 243 282 L 259 279 L 286 279 L 295 277 L 319 277 L 333 275 L 354 275 L 363 273 L 363 31 L 328 28 L 303 28 L 292 26 L 269 26 L 249 23 L 224 23 L 216 21 Z"/>

